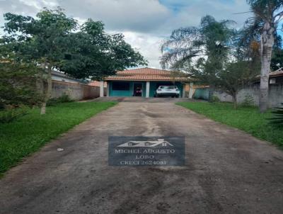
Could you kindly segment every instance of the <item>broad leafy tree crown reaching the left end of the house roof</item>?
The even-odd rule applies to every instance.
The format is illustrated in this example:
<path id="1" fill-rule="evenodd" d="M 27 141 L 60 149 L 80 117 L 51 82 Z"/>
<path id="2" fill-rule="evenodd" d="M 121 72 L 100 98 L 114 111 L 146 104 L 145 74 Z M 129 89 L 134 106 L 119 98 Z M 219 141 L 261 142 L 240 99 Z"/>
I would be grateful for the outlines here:
<path id="1" fill-rule="evenodd" d="M 72 77 L 100 80 L 118 70 L 147 64 L 122 34 L 105 33 L 100 21 L 88 19 L 67 41 L 69 52 L 57 67 Z"/>

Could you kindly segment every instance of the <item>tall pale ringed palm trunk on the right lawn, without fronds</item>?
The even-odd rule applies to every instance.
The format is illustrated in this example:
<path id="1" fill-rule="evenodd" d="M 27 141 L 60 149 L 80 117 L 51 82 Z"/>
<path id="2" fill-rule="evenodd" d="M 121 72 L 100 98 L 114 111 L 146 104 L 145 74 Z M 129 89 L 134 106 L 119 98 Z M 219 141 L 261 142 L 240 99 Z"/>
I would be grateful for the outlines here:
<path id="1" fill-rule="evenodd" d="M 275 43 L 275 28 L 269 22 L 265 22 L 261 35 L 261 71 L 260 71 L 260 112 L 263 113 L 268 108 L 268 86 L 270 61 L 272 55 L 272 47 Z"/>

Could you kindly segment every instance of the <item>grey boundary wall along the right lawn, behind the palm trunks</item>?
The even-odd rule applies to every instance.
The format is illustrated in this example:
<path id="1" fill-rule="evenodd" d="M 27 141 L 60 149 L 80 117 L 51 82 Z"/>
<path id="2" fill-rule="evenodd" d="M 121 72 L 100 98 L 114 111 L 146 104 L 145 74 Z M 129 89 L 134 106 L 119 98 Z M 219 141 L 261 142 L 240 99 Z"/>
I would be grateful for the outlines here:
<path id="1" fill-rule="evenodd" d="M 232 97 L 223 91 L 216 91 L 214 95 L 218 96 L 221 101 L 232 101 Z M 258 106 L 260 97 L 260 84 L 253 84 L 252 86 L 247 86 L 239 91 L 237 96 L 238 103 L 242 103 L 246 96 L 253 97 L 255 105 Z M 283 84 L 270 84 L 269 106 L 281 106 L 281 103 L 283 103 Z"/>

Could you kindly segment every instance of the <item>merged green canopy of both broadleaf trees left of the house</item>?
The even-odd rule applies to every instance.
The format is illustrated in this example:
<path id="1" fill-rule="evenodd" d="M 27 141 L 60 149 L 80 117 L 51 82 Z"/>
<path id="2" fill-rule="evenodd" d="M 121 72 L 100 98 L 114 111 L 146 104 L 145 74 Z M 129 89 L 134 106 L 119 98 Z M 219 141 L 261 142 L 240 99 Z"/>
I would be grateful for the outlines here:
<path id="1" fill-rule="evenodd" d="M 109 35 L 102 22 L 91 19 L 79 26 L 60 8 L 44 9 L 36 18 L 12 13 L 4 18 L 8 36 L 1 42 L 7 52 L 37 62 L 47 72 L 57 68 L 72 77 L 101 79 L 117 70 L 146 64 L 122 34 Z"/>

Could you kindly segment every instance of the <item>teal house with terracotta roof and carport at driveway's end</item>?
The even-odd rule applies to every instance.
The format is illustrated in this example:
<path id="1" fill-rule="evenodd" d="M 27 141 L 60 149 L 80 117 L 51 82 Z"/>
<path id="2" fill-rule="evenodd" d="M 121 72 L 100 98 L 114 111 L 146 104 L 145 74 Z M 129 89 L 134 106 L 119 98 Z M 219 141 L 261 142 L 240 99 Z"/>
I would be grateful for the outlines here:
<path id="1" fill-rule="evenodd" d="M 149 67 L 120 71 L 103 79 L 100 82 L 101 92 L 104 81 L 107 83 L 107 96 L 141 96 L 148 98 L 154 97 L 158 86 L 175 85 L 180 90 L 180 97 L 185 97 L 186 94 L 190 97 L 190 93 L 186 93 L 185 90 L 188 88 L 186 85 L 190 84 L 192 86 L 192 79 L 185 73 Z M 103 96 L 103 94 L 100 95 Z"/>

